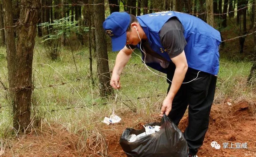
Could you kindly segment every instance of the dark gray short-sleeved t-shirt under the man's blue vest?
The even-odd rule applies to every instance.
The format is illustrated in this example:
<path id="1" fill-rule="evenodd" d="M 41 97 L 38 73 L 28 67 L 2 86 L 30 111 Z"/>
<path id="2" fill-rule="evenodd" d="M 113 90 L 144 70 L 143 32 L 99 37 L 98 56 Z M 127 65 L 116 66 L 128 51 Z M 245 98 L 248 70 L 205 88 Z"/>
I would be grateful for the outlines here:
<path id="1" fill-rule="evenodd" d="M 170 58 L 176 57 L 181 54 L 184 50 L 184 47 L 187 45 L 183 32 L 184 28 L 176 17 L 169 19 L 159 31 L 161 44 L 166 49 L 166 52 L 169 54 Z M 150 48 L 148 41 L 142 40 L 141 46 L 143 46 L 146 53 L 163 61 L 166 61 L 166 59 L 161 57 L 158 53 Z M 126 45 L 126 47 L 129 48 L 128 45 Z M 136 48 L 136 46 L 134 45 L 130 45 L 130 47 L 132 49 Z"/>

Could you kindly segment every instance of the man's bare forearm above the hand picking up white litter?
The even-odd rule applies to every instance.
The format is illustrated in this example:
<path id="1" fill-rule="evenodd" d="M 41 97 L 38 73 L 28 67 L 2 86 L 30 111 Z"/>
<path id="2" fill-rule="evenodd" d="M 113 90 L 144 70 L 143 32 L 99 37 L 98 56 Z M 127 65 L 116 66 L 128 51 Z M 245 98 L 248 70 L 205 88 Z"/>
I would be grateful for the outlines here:
<path id="1" fill-rule="evenodd" d="M 119 51 L 116 58 L 116 63 L 113 69 L 113 73 L 120 75 L 123 71 L 123 68 L 128 63 L 129 59 L 131 58 L 130 54 L 126 54 L 124 51 Z"/>

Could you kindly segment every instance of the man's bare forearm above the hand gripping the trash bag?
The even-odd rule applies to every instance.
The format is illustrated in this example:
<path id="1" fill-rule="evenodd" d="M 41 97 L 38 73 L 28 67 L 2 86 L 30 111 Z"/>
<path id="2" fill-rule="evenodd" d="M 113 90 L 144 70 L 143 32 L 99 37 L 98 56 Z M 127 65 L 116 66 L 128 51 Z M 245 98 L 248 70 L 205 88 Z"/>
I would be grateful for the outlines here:
<path id="1" fill-rule="evenodd" d="M 188 67 L 186 67 L 186 66 L 175 69 L 174 76 L 172 78 L 172 85 L 171 85 L 171 88 L 167 95 L 167 97 L 169 99 L 173 100 L 174 96 L 178 92 L 178 90 L 182 84 L 182 81 L 184 80 L 187 69 L 188 69 Z"/>

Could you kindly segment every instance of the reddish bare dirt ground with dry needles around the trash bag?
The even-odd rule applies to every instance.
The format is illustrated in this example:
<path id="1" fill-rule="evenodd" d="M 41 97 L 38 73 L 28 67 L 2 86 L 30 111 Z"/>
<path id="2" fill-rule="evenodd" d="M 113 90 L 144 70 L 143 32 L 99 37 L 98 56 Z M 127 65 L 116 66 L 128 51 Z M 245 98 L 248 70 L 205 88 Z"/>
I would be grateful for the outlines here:
<path id="1" fill-rule="evenodd" d="M 204 144 L 199 149 L 198 156 L 256 156 L 256 120 L 249 112 L 249 103 L 241 102 L 228 106 L 227 103 L 213 105 L 210 115 L 210 126 L 206 133 Z M 58 129 L 57 126 L 42 127 L 42 132 L 33 132 L 24 137 L 9 141 L 5 146 L 5 156 L 126 156 L 119 138 L 123 130 L 129 126 L 140 129 L 144 118 L 139 115 L 124 112 L 120 115 L 123 122 L 117 125 L 99 124 L 105 145 L 93 140 L 91 136 L 86 141 L 86 147 L 79 146 L 81 136 L 68 133 L 65 129 Z M 161 120 L 155 115 L 156 120 Z M 184 131 L 188 125 L 188 117 L 184 116 L 179 128 Z M 40 129 L 41 130 L 41 129 Z M 97 138 L 98 139 L 98 138 Z M 212 148 L 210 143 L 216 141 L 221 149 Z M 223 148 L 223 143 L 247 143 L 248 149 Z M 7 142 L 8 143 L 8 142 Z M 236 147 L 236 145 L 233 145 Z M 83 150 L 83 151 L 78 151 Z M 102 151 L 103 150 L 103 151 Z M 0 155 L 1 156 L 1 155 Z"/>

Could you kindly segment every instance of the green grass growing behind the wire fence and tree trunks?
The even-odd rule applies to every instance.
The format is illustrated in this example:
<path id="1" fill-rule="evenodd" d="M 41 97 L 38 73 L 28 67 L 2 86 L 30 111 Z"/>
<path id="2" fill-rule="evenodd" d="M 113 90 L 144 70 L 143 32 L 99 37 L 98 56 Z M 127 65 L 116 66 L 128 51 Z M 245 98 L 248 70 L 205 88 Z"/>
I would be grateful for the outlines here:
<path id="1" fill-rule="evenodd" d="M 7 86 L 8 71 L 5 51 L 4 47 L 0 48 L 0 65 L 2 65 L 0 78 Z M 35 89 L 32 93 L 31 104 L 31 119 L 35 126 L 40 126 L 43 122 L 43 125 L 61 125 L 70 133 L 80 133 L 81 130 L 83 133 L 88 133 L 95 129 L 95 123 L 100 123 L 104 116 L 111 115 L 113 109 L 117 115 L 133 111 L 146 118 L 159 113 L 168 87 L 166 78 L 159 77 L 147 70 L 138 56 L 133 54 L 127 68 L 123 70 L 120 80 L 122 88 L 118 92 L 114 91 L 109 98 L 103 99 L 99 96 L 97 78 L 95 78 L 95 85 L 89 78 L 86 78 L 90 73 L 88 48 L 80 47 L 79 50 L 74 51 L 79 75 L 76 72 L 69 47 L 61 50 L 61 57 L 57 61 L 51 61 L 46 57 L 46 53 L 47 49 L 36 44 L 32 77 L 35 88 L 70 82 L 76 78 L 83 79 L 50 88 Z M 108 55 L 109 66 L 112 69 L 117 52 L 109 52 Z M 250 95 L 254 98 L 252 89 L 248 88 L 245 82 L 252 63 L 234 61 L 225 57 L 220 61 L 215 103 L 221 103 L 227 98 Z M 93 74 L 97 73 L 96 67 L 94 58 Z M 163 73 L 159 74 L 164 75 Z M 118 98 L 116 103 L 115 93 Z M 14 133 L 12 131 L 12 107 L 8 103 L 7 94 L 0 88 L 2 106 L 0 109 L 0 138 L 8 138 Z M 138 97 L 141 99 L 137 99 Z M 84 107 L 81 108 L 81 106 Z M 67 108 L 71 109 L 67 110 Z"/>

